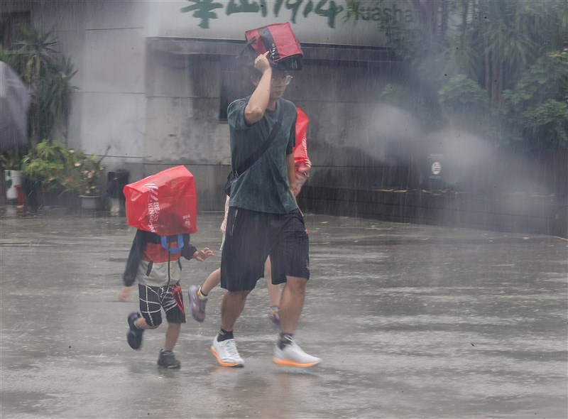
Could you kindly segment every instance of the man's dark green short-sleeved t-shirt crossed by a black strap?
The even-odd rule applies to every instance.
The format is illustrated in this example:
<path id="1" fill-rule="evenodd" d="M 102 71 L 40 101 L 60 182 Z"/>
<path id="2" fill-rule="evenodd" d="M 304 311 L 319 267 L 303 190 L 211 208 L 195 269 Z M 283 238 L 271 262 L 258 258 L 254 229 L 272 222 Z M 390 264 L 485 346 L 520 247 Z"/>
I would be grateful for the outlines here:
<path id="1" fill-rule="evenodd" d="M 286 156 L 293 152 L 296 139 L 295 105 L 285 99 L 276 101 L 276 110 L 266 109 L 263 118 L 247 126 L 244 109 L 250 97 L 229 104 L 227 119 L 231 136 L 231 165 L 238 168 L 271 134 L 279 107 L 283 107 L 282 126 L 273 143 L 261 158 L 231 186 L 231 207 L 252 211 L 285 214 L 297 208 L 288 185 Z"/>

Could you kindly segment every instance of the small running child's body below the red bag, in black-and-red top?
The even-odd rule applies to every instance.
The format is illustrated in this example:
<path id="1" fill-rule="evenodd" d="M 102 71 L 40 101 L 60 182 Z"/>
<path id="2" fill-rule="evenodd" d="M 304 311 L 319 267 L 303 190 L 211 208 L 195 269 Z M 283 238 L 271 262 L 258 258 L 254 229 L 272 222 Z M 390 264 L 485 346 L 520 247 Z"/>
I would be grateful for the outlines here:
<path id="1" fill-rule="evenodd" d="M 213 256 L 213 251 L 207 247 L 197 251 L 195 246 L 190 244 L 190 234 L 182 234 L 182 239 L 181 251 L 170 253 L 163 248 L 158 234 L 138 229 L 126 262 L 124 287 L 119 294 L 119 300 L 126 300 L 134 281 L 138 280 L 140 312 L 129 314 L 129 332 L 126 334 L 132 349 L 140 349 L 144 330 L 155 329 L 161 324 L 161 309 L 164 310 L 168 329 L 165 332 L 164 348 L 158 357 L 158 365 L 165 368 L 180 367 L 180 361 L 175 359 L 173 354 L 173 348 L 180 336 L 181 324 L 185 323 L 180 287 L 182 271 L 180 256 L 197 261 L 204 261 L 209 256 Z M 177 248 L 178 236 L 168 236 L 166 243 L 170 249 Z"/>

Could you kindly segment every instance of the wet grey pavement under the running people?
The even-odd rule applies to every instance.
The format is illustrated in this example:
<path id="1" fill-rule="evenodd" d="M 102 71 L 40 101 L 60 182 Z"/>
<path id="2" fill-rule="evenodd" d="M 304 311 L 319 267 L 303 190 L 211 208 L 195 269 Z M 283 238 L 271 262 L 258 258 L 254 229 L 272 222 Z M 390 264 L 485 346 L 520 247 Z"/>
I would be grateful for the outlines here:
<path id="1" fill-rule="evenodd" d="M 220 244 L 200 214 L 197 247 Z M 182 367 L 135 352 L 119 303 L 134 231 L 123 218 L 0 219 L 1 418 L 566 418 L 568 241 L 306 216 L 312 279 L 297 332 L 312 369 L 271 363 L 264 281 L 235 334 L 246 366 L 216 365 L 188 315 Z M 219 254 L 219 252 L 217 252 Z M 184 293 L 220 256 L 185 261 Z M 185 295 L 187 307 L 187 295 Z"/>

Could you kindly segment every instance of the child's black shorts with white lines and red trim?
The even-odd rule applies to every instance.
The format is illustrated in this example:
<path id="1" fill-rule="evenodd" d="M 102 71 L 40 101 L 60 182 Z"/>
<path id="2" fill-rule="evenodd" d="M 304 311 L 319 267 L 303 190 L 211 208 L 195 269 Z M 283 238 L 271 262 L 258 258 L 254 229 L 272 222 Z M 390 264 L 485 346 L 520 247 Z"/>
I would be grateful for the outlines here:
<path id="1" fill-rule="evenodd" d="M 162 308 L 168 323 L 185 323 L 182 288 L 180 283 L 163 287 L 151 287 L 138 284 L 140 313 L 150 326 L 162 323 Z"/>

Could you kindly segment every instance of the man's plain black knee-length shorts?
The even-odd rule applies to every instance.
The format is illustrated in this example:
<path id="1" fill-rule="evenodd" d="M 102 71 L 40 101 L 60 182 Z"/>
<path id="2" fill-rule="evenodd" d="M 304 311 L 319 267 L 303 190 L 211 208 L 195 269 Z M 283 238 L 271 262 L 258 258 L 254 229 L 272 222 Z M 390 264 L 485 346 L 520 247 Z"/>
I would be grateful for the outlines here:
<path id="1" fill-rule="evenodd" d="M 310 240 L 299 209 L 268 214 L 229 207 L 221 257 L 221 286 L 229 291 L 252 290 L 264 276 L 268 255 L 272 283 L 286 276 L 310 279 Z"/>

